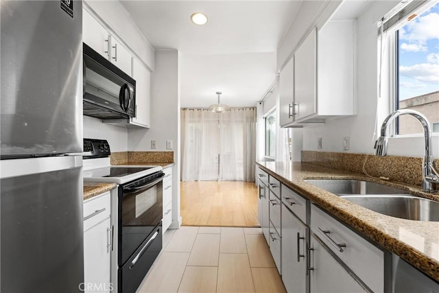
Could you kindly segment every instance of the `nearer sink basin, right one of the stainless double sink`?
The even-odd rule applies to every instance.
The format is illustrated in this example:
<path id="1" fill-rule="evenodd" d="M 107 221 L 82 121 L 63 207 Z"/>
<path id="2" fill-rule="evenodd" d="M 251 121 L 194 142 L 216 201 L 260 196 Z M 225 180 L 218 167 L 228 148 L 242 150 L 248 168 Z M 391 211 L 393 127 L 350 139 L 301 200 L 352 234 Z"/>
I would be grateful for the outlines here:
<path id="1" fill-rule="evenodd" d="M 355 204 L 396 218 L 439 222 L 439 202 L 416 196 L 340 196 Z"/>

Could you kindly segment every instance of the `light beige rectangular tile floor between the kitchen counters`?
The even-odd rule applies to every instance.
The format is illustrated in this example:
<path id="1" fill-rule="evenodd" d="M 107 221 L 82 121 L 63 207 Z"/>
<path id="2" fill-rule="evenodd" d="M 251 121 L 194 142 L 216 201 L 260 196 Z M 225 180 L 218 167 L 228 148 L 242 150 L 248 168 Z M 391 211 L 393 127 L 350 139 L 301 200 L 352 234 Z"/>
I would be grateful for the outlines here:
<path id="1" fill-rule="evenodd" d="M 182 226 L 138 292 L 285 292 L 261 228 Z"/>

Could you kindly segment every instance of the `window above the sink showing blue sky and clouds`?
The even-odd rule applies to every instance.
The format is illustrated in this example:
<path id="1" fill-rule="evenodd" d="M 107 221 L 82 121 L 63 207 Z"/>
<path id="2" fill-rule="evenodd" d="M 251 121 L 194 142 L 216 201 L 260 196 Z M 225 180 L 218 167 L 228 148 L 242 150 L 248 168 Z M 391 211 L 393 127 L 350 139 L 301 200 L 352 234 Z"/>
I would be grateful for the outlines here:
<path id="1" fill-rule="evenodd" d="M 385 25 L 384 25 L 385 27 Z M 439 121 L 439 3 L 410 12 L 394 31 L 396 69 L 395 109 L 423 113 L 431 130 Z M 410 115 L 399 117 L 396 134 L 422 133 L 422 126 Z"/>

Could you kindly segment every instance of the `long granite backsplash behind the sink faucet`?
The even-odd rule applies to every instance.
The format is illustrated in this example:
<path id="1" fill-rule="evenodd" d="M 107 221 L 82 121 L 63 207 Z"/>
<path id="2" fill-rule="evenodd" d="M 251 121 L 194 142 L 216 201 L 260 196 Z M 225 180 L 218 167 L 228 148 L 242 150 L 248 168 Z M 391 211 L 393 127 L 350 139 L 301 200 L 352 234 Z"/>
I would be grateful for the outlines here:
<path id="1" fill-rule="evenodd" d="M 364 165 L 365 160 L 366 165 Z M 303 150 L 302 162 L 359 174 L 364 174 L 364 166 L 370 176 L 384 176 L 390 178 L 391 181 L 410 185 L 420 186 L 423 178 L 423 159 L 410 156 L 375 156 L 373 154 Z M 434 160 L 434 166 L 438 169 L 439 159 Z"/>

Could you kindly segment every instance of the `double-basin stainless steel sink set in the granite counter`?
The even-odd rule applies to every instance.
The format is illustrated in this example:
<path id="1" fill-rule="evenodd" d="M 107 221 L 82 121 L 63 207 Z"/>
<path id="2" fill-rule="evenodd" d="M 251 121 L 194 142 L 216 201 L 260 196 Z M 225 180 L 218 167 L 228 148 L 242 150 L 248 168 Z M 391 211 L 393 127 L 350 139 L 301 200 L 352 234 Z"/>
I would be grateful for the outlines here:
<path id="1" fill-rule="evenodd" d="M 407 191 L 362 180 L 305 180 L 331 194 L 383 215 L 439 222 L 439 202 L 412 196 Z"/>

